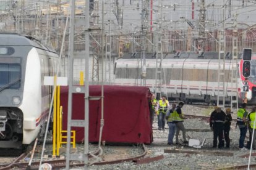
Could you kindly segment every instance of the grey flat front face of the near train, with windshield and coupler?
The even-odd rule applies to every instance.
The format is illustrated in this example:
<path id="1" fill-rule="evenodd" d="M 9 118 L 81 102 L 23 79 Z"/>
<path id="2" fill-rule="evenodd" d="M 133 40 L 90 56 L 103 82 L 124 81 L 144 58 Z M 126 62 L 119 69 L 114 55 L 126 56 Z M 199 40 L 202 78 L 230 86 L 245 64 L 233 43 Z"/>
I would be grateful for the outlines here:
<path id="1" fill-rule="evenodd" d="M 15 148 L 23 140 L 22 47 L 0 46 L 0 148 Z M 21 53 L 20 53 L 21 54 Z"/>

